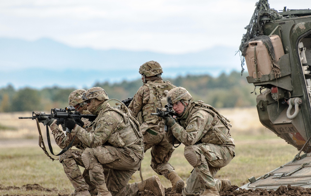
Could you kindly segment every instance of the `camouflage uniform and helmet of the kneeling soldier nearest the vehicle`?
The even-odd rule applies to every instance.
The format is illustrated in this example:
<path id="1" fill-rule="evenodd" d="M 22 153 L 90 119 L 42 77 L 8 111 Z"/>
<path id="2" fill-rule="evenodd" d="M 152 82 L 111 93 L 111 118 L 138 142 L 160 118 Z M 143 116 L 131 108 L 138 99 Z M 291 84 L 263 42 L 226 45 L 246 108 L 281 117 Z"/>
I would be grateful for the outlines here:
<path id="1" fill-rule="evenodd" d="M 185 91 L 186 89 L 178 87 L 167 95 L 172 98 L 172 103 L 182 99 L 189 100 L 190 103 L 177 119 L 178 123 L 174 123 L 170 131 L 165 133 L 165 138 L 172 143 L 175 137 L 174 143 L 183 143 L 184 155 L 194 167 L 183 195 L 202 194 L 204 189 L 219 185 L 219 180 L 215 180 L 214 176 L 235 156 L 235 145 L 230 137 L 231 125 L 227 119 L 202 101 L 191 102 L 191 95 Z M 184 98 L 185 96 L 189 97 Z"/>

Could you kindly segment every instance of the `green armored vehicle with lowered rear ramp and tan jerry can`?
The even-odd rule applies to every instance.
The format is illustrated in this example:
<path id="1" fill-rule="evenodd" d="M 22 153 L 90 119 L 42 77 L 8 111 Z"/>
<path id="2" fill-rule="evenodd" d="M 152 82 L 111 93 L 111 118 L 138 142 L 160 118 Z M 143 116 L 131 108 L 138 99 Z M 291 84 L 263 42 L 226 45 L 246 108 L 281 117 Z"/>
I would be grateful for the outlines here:
<path id="1" fill-rule="evenodd" d="M 245 59 L 248 83 L 260 87 L 260 122 L 299 153 L 285 165 L 249 178 L 241 188 L 311 188 L 311 10 L 276 11 L 260 0 L 245 29 L 242 69 Z"/>

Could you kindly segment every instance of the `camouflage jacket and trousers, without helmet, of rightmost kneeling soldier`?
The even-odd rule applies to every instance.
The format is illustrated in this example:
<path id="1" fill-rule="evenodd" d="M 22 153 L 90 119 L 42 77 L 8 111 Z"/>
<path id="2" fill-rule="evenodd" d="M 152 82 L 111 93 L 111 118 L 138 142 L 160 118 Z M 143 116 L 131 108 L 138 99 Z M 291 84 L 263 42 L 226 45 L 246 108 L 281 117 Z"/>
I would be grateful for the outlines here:
<path id="1" fill-rule="evenodd" d="M 185 115 L 177 119 L 178 123 L 175 123 L 170 127 L 170 131 L 165 133 L 165 139 L 171 143 L 174 136 L 177 139 L 175 143 L 185 145 L 184 155 L 194 170 L 187 180 L 187 188 L 183 190 L 183 194 L 191 195 L 198 190 L 194 188 L 197 181 L 199 181 L 200 190 L 215 186 L 214 176 L 235 156 L 235 145 L 230 136 L 219 145 L 200 142 L 204 136 L 212 134 L 212 124 L 219 125 L 219 130 L 228 128 L 218 118 L 215 119 L 215 116 L 206 108 L 196 103 L 189 103 L 184 113 Z M 194 185 L 188 186 L 188 183 Z"/>

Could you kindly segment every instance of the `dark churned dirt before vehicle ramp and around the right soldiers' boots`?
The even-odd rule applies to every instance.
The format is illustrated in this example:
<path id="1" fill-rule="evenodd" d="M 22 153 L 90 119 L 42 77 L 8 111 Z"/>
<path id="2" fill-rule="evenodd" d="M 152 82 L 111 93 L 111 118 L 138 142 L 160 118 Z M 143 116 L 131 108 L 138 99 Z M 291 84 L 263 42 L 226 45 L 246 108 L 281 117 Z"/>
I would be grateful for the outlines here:
<path id="1" fill-rule="evenodd" d="M 262 189 L 238 189 L 238 186 L 230 186 L 229 189 L 225 191 L 221 191 L 219 193 L 220 196 L 310 196 L 311 188 L 302 188 L 300 186 L 280 186 L 277 190 L 262 190 Z M 182 194 L 171 191 L 172 188 L 165 188 L 165 196 L 182 196 Z M 139 193 L 140 196 L 154 196 L 151 191 L 142 191 Z"/>

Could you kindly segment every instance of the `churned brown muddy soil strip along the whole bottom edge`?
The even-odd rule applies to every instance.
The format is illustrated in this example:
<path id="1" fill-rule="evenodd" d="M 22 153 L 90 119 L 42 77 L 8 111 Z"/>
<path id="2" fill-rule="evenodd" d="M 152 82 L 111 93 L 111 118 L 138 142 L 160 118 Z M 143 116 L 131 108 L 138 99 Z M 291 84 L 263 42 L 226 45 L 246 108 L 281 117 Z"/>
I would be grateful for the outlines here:
<path id="1" fill-rule="evenodd" d="M 229 189 L 220 192 L 220 196 L 285 196 L 285 195 L 290 195 L 290 196 L 310 196 L 311 195 L 311 188 L 302 188 L 299 186 L 281 186 L 277 190 L 261 190 L 261 189 L 256 189 L 256 190 L 246 190 L 246 189 L 238 189 L 238 186 L 231 186 Z M 30 190 L 37 190 L 37 191 L 42 191 L 45 193 L 50 193 L 50 194 L 40 194 L 40 195 L 45 195 L 45 196 L 70 196 L 70 194 L 64 193 L 64 191 L 59 191 L 56 188 L 53 189 L 47 189 L 44 188 L 38 184 L 27 184 L 23 185 L 22 187 L 17 187 L 17 186 L 3 186 L 0 185 L 0 191 L 9 191 L 9 190 L 21 190 L 21 191 L 30 191 Z M 171 188 L 166 189 L 165 188 L 165 196 L 182 196 L 182 194 L 178 194 L 174 191 L 171 191 Z M 3 194 L 4 196 L 18 196 L 18 194 Z M 24 194 L 22 194 L 24 195 Z M 34 196 L 32 194 L 27 194 L 28 196 Z M 151 191 L 142 191 L 139 193 L 139 196 L 154 196 L 154 194 Z"/>

